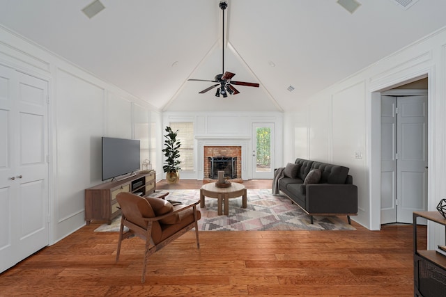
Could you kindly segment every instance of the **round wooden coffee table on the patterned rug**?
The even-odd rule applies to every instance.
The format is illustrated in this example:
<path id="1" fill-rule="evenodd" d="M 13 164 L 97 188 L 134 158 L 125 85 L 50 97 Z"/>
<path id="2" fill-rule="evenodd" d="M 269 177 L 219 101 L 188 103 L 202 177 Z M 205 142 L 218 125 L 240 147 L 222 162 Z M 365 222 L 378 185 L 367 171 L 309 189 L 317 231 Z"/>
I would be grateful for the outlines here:
<path id="1" fill-rule="evenodd" d="M 246 188 L 243 184 L 238 182 L 231 183 L 231 186 L 219 187 L 215 186 L 215 182 L 210 182 L 208 184 L 203 184 L 200 188 L 200 207 L 205 207 L 204 198 L 217 198 L 217 214 L 222 215 L 222 204 L 224 200 L 224 214 L 227 216 L 229 214 L 229 198 L 236 198 L 242 196 L 242 207 L 247 207 L 247 195 Z"/>

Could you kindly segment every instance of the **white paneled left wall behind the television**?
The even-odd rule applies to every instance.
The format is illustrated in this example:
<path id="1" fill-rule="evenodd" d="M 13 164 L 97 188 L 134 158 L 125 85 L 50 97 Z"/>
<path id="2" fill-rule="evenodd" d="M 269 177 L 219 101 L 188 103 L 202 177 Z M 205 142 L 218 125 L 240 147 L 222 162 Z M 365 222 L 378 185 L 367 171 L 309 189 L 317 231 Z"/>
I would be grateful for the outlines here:
<path id="1" fill-rule="evenodd" d="M 100 137 L 138 138 L 146 147 L 149 124 L 160 128 L 160 113 L 1 26 L 0 64 L 49 81 L 49 224 L 54 243 L 85 224 L 84 189 L 102 183 Z M 146 158 L 148 150 L 141 155 Z"/>

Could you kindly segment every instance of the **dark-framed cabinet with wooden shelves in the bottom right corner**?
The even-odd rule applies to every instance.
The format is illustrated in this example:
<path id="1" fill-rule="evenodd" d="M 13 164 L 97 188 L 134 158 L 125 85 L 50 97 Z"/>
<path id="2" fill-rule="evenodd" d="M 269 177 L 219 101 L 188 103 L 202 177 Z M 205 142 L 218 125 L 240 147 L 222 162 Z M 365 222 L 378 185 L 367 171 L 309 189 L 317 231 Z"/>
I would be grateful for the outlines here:
<path id="1" fill-rule="evenodd" d="M 446 220 L 438 211 L 413 213 L 413 268 L 414 296 L 446 296 L 446 256 L 437 250 L 422 250 L 417 246 L 417 218 L 426 218 L 446 226 Z M 446 227 L 445 227 L 446 232 Z"/>

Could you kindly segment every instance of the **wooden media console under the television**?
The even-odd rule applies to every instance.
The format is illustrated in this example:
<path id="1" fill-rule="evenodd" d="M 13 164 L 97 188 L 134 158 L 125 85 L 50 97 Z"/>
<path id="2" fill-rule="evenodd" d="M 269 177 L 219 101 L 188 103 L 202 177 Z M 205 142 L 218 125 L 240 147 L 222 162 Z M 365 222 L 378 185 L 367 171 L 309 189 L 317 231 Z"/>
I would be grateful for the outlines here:
<path id="1" fill-rule="evenodd" d="M 85 220 L 89 225 L 92 220 L 112 223 L 121 214 L 116 195 L 130 192 L 146 196 L 155 191 L 155 171 L 137 173 L 121 181 L 106 182 L 85 190 Z"/>

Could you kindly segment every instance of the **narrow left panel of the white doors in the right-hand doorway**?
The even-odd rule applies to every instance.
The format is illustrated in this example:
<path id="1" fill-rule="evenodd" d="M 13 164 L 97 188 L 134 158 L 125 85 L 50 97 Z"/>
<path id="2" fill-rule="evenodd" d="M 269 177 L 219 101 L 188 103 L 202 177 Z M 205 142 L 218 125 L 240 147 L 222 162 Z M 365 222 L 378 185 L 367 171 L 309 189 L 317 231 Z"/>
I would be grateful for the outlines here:
<path id="1" fill-rule="evenodd" d="M 397 97 L 381 97 L 381 224 L 397 221 Z"/>

